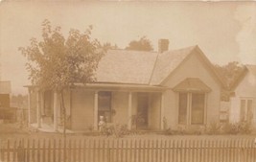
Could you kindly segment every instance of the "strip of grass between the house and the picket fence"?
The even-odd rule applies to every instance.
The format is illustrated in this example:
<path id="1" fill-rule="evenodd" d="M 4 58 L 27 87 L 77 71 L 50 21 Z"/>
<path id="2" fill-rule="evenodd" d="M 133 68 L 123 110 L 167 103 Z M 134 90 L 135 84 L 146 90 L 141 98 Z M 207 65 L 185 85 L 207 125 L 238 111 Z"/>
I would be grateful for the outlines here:
<path id="1" fill-rule="evenodd" d="M 93 134 L 93 133 L 91 133 Z M 35 131 L 35 129 L 30 129 L 28 127 L 20 127 L 19 124 L 0 124 L 0 139 L 3 141 L 7 139 L 22 139 L 22 138 L 31 138 L 31 139 L 37 139 L 37 138 L 45 138 L 45 139 L 51 139 L 51 138 L 61 138 L 63 137 L 61 132 L 39 132 Z M 111 139 L 115 138 L 113 136 L 100 136 L 100 135 L 90 135 L 90 133 L 84 134 L 84 133 L 68 133 L 68 138 L 101 138 L 101 139 Z M 254 139 L 255 134 L 247 134 L 247 135 L 162 135 L 157 134 L 154 132 L 145 132 L 142 134 L 133 134 L 133 135 L 126 135 L 122 139 L 184 139 L 184 140 L 193 140 L 193 139 L 200 139 L 200 140 L 227 140 L 227 139 Z"/>

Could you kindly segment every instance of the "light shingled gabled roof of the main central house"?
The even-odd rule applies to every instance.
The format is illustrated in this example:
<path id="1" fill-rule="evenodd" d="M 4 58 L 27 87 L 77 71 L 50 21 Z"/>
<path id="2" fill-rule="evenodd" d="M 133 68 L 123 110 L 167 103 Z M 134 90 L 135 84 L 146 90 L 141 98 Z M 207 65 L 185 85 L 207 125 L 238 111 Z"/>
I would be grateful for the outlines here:
<path id="1" fill-rule="evenodd" d="M 211 66 L 198 46 L 164 53 L 109 50 L 99 62 L 96 79 L 97 82 L 161 85 L 195 50 Z M 210 70 L 221 82 L 214 68 Z"/>

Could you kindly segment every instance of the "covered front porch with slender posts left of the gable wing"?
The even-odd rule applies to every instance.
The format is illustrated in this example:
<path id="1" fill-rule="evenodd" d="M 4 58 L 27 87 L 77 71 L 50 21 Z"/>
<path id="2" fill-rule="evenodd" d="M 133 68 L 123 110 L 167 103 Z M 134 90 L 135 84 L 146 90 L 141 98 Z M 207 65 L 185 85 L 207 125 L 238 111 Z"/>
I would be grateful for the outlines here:
<path id="1" fill-rule="evenodd" d="M 105 123 L 127 125 L 128 129 L 161 129 L 164 90 L 147 85 L 76 84 L 64 93 L 67 128 L 98 130 L 99 118 L 104 116 Z M 58 94 L 35 88 L 30 90 L 29 100 L 30 124 L 37 128 L 51 126 L 51 131 L 58 131 L 61 127 Z M 134 118 L 140 118 L 135 126 Z"/>

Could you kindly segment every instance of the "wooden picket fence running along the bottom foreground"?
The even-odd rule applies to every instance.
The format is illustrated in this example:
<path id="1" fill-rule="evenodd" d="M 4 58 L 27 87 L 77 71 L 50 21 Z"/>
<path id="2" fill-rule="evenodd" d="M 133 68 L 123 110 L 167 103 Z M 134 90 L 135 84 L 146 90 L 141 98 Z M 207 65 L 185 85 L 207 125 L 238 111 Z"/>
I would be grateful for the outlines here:
<path id="1" fill-rule="evenodd" d="M 255 162 L 254 140 L 23 139 L 2 141 L 1 162 Z"/>

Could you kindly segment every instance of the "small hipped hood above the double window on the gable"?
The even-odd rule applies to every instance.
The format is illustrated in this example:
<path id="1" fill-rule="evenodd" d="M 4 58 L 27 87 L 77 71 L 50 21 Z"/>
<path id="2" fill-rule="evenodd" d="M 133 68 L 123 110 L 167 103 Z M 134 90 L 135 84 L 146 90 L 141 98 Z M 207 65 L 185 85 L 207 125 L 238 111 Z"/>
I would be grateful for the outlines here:
<path id="1" fill-rule="evenodd" d="M 182 91 L 197 91 L 197 92 L 210 92 L 211 88 L 198 78 L 188 78 L 179 82 L 174 88 L 176 92 Z"/>

